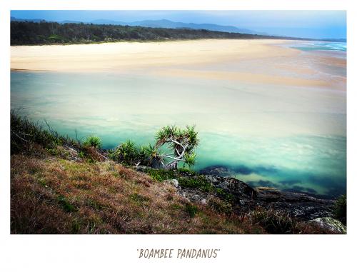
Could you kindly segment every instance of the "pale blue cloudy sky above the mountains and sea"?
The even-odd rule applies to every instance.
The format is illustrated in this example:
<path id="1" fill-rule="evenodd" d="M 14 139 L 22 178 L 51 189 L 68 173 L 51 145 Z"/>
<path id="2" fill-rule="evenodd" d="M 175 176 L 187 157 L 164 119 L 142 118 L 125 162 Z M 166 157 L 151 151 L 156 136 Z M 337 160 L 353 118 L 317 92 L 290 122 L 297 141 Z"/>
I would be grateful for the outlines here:
<path id="1" fill-rule="evenodd" d="M 313 39 L 346 39 L 346 11 L 11 11 L 18 19 L 142 21 L 168 19 L 219 24 L 271 35 Z"/>

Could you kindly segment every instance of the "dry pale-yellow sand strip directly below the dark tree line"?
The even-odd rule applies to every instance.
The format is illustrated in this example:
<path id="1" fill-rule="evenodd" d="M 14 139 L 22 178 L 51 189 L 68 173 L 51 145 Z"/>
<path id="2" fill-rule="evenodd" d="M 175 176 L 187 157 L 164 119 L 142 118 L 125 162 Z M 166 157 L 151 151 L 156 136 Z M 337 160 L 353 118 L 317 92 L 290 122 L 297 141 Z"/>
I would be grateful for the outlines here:
<path id="1" fill-rule="evenodd" d="M 121 71 L 177 64 L 291 56 L 296 49 L 271 48 L 281 40 L 204 39 L 49 46 L 11 46 L 11 69 Z"/>

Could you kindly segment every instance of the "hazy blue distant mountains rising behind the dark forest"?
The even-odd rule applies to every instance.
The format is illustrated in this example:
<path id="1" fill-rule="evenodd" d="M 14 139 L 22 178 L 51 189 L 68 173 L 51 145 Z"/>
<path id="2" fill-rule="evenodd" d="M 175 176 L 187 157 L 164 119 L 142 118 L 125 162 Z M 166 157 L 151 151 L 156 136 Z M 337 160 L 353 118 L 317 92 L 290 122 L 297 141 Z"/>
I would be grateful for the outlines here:
<path id="1" fill-rule="evenodd" d="M 44 19 L 17 19 L 11 17 L 11 21 L 46 21 Z M 81 21 L 57 21 L 60 24 L 80 24 Z M 206 29 L 211 31 L 223 31 L 231 33 L 241 33 L 241 34 L 256 34 L 256 35 L 268 35 L 266 32 L 253 31 L 251 29 L 239 29 L 236 26 L 221 26 L 218 24 L 193 24 L 193 23 L 182 23 L 178 21 L 170 21 L 166 19 L 162 20 L 144 20 L 144 21 L 134 21 L 134 22 L 124 22 L 124 21 L 114 21 L 107 19 L 96 19 L 93 21 L 84 21 L 83 23 L 91 24 L 113 24 L 120 26 L 145 26 L 145 27 L 161 27 L 164 29 Z"/>

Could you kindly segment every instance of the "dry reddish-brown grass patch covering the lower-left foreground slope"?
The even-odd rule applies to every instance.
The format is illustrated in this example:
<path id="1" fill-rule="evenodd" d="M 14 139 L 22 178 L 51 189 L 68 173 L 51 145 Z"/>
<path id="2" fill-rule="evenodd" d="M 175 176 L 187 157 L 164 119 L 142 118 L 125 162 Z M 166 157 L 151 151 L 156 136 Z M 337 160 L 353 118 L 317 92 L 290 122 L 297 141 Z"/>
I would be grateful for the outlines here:
<path id="1" fill-rule="evenodd" d="M 235 216 L 111 161 L 11 156 L 11 233 L 246 233 Z"/>

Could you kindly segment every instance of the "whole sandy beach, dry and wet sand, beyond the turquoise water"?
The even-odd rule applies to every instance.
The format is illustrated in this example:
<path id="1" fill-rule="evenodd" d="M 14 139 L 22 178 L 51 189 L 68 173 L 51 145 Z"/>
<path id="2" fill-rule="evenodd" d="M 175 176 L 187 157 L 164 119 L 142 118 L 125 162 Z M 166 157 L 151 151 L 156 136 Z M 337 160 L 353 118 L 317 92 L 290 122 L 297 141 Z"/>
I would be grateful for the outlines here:
<path id="1" fill-rule="evenodd" d="M 223 79 L 288 86 L 345 89 L 311 64 L 346 66 L 329 55 L 304 56 L 284 40 L 195 40 L 11 46 L 11 69 L 139 72 L 153 76 Z M 294 41 L 296 42 L 296 41 Z M 308 60 L 307 60 L 308 59 Z"/>

